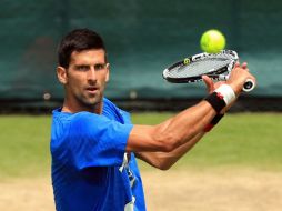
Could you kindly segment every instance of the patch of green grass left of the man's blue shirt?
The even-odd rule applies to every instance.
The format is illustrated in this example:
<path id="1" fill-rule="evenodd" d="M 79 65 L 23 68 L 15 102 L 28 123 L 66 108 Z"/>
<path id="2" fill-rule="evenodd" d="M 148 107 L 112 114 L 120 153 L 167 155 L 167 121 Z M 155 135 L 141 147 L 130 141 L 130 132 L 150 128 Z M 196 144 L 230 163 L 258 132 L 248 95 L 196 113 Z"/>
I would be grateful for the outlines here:
<path id="1" fill-rule="evenodd" d="M 0 177 L 46 174 L 50 169 L 46 115 L 0 115 Z"/>

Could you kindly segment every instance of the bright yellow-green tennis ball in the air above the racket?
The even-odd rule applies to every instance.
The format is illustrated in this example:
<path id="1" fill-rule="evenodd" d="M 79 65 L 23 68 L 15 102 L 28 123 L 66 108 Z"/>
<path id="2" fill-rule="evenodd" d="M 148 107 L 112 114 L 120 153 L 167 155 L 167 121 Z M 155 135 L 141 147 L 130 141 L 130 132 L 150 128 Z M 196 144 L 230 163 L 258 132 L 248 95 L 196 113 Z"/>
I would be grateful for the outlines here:
<path id="1" fill-rule="evenodd" d="M 216 29 L 205 31 L 200 40 L 201 49 L 208 53 L 218 53 L 225 48 L 225 38 Z"/>

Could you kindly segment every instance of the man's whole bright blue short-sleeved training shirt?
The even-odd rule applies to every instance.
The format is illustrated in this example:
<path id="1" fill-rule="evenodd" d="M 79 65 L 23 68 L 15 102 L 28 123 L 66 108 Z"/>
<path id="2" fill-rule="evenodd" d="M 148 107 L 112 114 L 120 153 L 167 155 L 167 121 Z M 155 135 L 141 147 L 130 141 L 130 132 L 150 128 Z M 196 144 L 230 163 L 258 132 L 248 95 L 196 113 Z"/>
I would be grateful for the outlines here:
<path id="1" fill-rule="evenodd" d="M 101 115 L 53 110 L 50 150 L 57 211 L 145 210 L 134 153 L 125 153 L 131 129 L 129 113 L 105 98 Z"/>

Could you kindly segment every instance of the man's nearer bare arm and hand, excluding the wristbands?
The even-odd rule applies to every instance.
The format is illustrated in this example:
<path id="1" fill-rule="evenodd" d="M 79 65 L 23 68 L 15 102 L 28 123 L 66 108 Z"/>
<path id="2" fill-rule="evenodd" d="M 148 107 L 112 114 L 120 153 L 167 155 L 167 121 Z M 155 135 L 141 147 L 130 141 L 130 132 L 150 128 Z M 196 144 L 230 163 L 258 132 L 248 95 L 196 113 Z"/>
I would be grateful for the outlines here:
<path id="1" fill-rule="evenodd" d="M 255 81 L 246 68 L 236 67 L 226 84 L 239 96 L 246 79 Z M 215 114 L 213 107 L 203 100 L 158 125 L 134 125 L 128 139 L 127 151 L 173 151 L 202 132 Z"/>

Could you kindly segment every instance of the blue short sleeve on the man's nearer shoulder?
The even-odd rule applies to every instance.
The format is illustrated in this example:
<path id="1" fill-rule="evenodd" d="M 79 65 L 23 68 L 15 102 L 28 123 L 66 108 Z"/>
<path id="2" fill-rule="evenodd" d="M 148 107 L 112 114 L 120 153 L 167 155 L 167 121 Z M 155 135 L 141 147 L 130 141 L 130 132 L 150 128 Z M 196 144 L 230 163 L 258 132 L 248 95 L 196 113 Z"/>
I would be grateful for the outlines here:
<path id="1" fill-rule="evenodd" d="M 121 165 L 131 129 L 132 124 L 122 124 L 103 115 L 75 114 L 68 135 L 71 163 L 80 170 Z"/>

